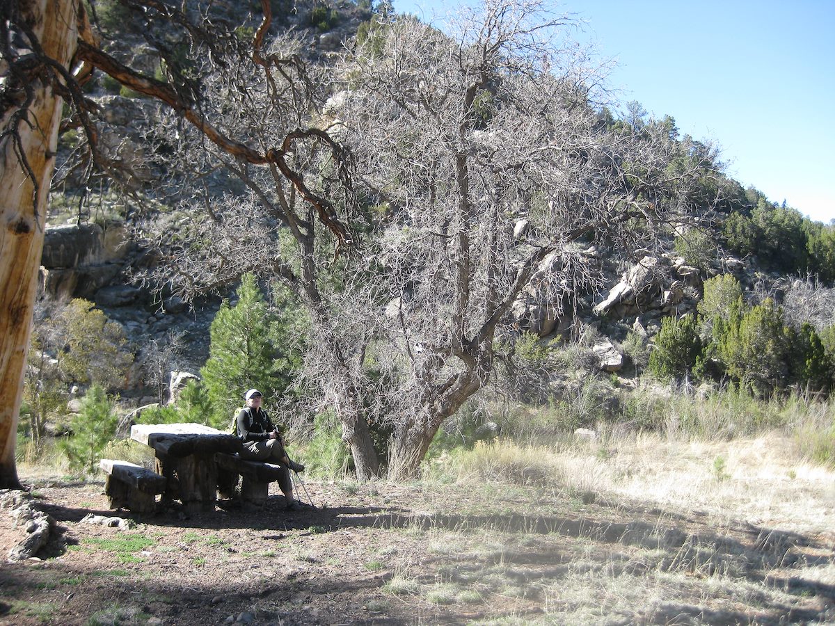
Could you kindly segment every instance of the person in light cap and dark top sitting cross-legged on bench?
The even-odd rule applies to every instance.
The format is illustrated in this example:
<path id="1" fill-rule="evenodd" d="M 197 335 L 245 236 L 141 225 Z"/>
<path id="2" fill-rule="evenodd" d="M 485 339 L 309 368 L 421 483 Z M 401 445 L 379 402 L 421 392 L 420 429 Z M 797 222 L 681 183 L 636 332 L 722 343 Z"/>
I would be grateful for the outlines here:
<path id="1" fill-rule="evenodd" d="M 245 393 L 246 406 L 237 417 L 238 437 L 243 438 L 240 457 L 247 461 L 266 461 L 281 465 L 281 477 L 278 486 L 287 499 L 287 508 L 297 511 L 301 506 L 293 498 L 293 486 L 290 472 L 302 472 L 301 463 L 292 462 L 284 450 L 281 434 L 278 432 L 266 411 L 261 410 L 263 397 L 261 391 L 251 389 Z"/>

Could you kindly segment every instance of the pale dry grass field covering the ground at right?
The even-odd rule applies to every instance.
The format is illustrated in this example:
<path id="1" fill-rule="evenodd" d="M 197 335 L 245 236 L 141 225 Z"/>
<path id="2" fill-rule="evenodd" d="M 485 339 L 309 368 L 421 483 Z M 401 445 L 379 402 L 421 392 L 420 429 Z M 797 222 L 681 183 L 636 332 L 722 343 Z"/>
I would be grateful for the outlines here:
<path id="1" fill-rule="evenodd" d="M 473 492 L 443 537 L 457 547 L 450 582 L 543 611 L 475 623 L 835 623 L 835 471 L 809 462 L 786 428 L 499 440 L 442 465 Z M 494 512 L 519 505 L 488 523 L 476 493 L 502 494 Z M 630 520 L 620 535 L 605 510 Z"/>

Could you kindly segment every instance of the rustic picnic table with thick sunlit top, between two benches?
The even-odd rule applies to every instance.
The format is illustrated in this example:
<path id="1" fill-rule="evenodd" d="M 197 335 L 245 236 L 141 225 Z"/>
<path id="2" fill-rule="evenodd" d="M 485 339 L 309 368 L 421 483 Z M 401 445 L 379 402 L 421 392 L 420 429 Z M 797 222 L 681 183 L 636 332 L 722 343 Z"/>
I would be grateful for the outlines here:
<path id="1" fill-rule="evenodd" d="M 165 478 L 164 500 L 180 500 L 188 512 L 215 510 L 215 455 L 238 452 L 240 437 L 203 424 L 180 423 L 135 424 L 130 438 L 154 449 L 156 472 Z"/>

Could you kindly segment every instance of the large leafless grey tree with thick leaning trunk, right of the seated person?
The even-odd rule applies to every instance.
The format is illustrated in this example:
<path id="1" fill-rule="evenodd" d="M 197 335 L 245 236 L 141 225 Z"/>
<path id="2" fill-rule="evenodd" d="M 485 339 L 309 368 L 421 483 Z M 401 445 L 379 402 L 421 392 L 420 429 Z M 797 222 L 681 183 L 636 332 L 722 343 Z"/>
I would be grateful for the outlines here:
<path id="1" fill-rule="evenodd" d="M 658 247 L 711 175 L 664 124 L 603 119 L 600 77 L 566 25 L 538 0 L 486 0 L 452 37 L 398 19 L 342 63 L 342 137 L 385 209 L 338 326 L 365 316 L 365 360 L 388 386 L 391 477 L 417 472 L 488 381 L 523 290 L 568 313 L 597 275 L 584 249 Z"/>

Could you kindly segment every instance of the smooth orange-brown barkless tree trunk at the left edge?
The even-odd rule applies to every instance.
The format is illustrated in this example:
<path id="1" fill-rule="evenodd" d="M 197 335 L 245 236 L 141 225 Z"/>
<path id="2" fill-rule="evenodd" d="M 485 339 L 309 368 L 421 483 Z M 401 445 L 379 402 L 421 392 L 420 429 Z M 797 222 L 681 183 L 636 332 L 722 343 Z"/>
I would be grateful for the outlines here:
<path id="1" fill-rule="evenodd" d="M 11 3 L 3 13 L 15 8 L 43 53 L 68 68 L 78 33 L 74 0 Z M 31 93 L 26 109 L 0 112 L 7 133 L 0 143 L 0 488 L 20 487 L 14 447 L 63 104 L 54 68 L 33 66 L 17 89 L 8 74 L 0 78 L 21 103 L 24 87 Z"/>

